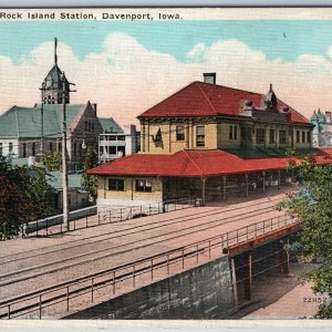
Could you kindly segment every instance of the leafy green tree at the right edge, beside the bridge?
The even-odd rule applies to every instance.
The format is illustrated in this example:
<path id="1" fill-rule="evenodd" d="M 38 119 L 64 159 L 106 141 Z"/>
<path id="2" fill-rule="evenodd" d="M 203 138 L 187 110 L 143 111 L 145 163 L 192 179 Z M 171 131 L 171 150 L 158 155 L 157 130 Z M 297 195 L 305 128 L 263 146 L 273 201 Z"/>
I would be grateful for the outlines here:
<path id="1" fill-rule="evenodd" d="M 318 166 L 314 157 L 307 157 L 290 167 L 297 169 L 302 189 L 281 207 L 298 216 L 302 227 L 289 249 L 301 258 L 320 262 L 318 268 L 303 274 L 303 280 L 313 282 L 315 293 L 329 295 L 315 317 L 332 318 L 332 165 Z"/>

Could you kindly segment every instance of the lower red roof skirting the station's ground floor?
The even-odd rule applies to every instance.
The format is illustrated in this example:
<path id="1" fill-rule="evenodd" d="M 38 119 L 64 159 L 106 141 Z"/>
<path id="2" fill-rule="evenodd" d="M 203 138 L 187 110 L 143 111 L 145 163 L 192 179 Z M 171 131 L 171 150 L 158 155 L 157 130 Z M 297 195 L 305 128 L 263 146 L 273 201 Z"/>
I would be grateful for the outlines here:
<path id="1" fill-rule="evenodd" d="M 295 158 L 241 159 L 224 151 L 180 151 L 174 155 L 132 155 L 87 170 L 95 175 L 217 176 L 278 169 Z M 332 163 L 332 148 L 315 156 L 318 164 Z"/>

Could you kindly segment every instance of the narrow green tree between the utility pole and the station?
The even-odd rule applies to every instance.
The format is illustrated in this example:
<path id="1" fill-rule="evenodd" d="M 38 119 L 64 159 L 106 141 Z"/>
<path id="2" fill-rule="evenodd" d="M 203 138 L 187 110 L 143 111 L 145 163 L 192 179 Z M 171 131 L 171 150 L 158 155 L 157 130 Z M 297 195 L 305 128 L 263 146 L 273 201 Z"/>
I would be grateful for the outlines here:
<path id="1" fill-rule="evenodd" d="M 95 175 L 87 174 L 86 170 L 96 165 L 97 155 L 92 148 L 92 146 L 87 145 L 83 162 L 82 186 L 85 190 L 89 191 L 94 201 L 97 197 L 97 177 Z"/>

